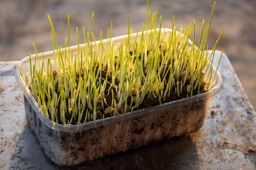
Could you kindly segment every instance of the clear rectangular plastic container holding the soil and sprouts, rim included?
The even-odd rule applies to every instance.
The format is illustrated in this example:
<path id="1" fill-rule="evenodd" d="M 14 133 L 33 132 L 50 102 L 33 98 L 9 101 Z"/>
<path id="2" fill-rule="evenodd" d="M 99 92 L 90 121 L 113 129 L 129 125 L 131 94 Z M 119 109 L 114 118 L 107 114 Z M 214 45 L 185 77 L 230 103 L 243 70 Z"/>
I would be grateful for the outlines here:
<path id="1" fill-rule="evenodd" d="M 166 29 L 168 31 L 171 29 Z M 118 42 L 126 37 L 127 35 L 112 40 Z M 75 53 L 77 46 L 71 48 Z M 47 60 L 47 57 L 53 56 L 53 51 L 43 54 Z M 34 56 L 32 55 L 32 61 Z M 42 53 L 38 56 L 42 60 Z M 15 73 L 24 93 L 26 119 L 46 156 L 61 166 L 74 166 L 197 131 L 204 124 L 213 95 L 222 88 L 222 79 L 217 72 L 215 84 L 207 93 L 85 124 L 61 125 L 44 116 L 18 67 L 24 74 L 30 72 L 29 57 L 18 64 Z M 215 71 L 213 68 L 213 72 Z"/>

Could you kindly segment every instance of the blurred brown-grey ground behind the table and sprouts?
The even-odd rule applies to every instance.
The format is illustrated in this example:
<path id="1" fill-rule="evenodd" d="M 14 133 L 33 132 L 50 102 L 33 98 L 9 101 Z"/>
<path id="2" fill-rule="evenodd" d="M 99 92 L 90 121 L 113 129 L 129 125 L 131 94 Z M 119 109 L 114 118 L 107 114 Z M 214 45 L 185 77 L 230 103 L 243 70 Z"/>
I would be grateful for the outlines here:
<path id="1" fill-rule="evenodd" d="M 158 9 L 166 27 L 172 27 L 172 16 L 177 28 L 189 26 L 195 20 L 196 36 L 202 20 L 209 23 L 214 0 L 150 0 L 150 12 Z M 58 44 L 64 44 L 67 35 L 67 16 L 70 13 L 71 45 L 76 45 L 76 26 L 88 31 L 92 12 L 92 32 L 103 38 L 113 22 L 113 37 L 128 33 L 127 20 L 133 31 L 146 22 L 146 0 L 0 0 L 0 61 L 21 60 L 34 53 L 52 50 L 49 14 L 54 24 Z M 256 1 L 216 0 L 211 24 L 209 46 L 215 44 L 223 28 L 225 32 L 217 49 L 224 50 L 250 101 L 256 108 Z"/>

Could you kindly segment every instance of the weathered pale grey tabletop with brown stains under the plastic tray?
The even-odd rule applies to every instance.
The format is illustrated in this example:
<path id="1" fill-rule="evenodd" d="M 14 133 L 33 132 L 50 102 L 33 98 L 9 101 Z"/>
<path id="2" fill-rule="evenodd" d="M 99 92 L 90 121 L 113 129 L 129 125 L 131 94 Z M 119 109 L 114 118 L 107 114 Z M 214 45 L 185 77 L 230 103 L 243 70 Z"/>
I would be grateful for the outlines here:
<path id="1" fill-rule="evenodd" d="M 218 61 L 220 51 L 215 57 Z M 256 169 L 256 113 L 226 55 L 219 68 L 222 91 L 213 97 L 200 130 L 75 167 L 49 161 L 26 124 L 16 65 L 0 63 L 1 170 Z"/>

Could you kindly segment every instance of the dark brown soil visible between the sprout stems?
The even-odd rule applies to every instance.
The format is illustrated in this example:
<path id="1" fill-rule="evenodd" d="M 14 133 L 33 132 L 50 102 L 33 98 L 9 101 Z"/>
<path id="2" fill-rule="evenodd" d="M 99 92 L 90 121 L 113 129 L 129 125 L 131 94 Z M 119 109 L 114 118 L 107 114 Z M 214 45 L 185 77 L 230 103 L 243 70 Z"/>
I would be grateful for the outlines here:
<path id="1" fill-rule="evenodd" d="M 130 52 L 130 54 L 132 54 L 131 52 Z M 139 56 L 140 57 L 140 56 Z M 169 63 L 170 64 L 170 63 Z M 97 69 L 98 69 L 99 67 L 97 66 L 97 68 L 96 68 L 96 71 L 95 71 L 95 73 L 97 73 Z M 168 66 L 167 66 L 167 68 L 168 68 Z M 145 73 L 145 68 L 144 68 L 144 75 L 146 76 L 146 73 Z M 82 72 L 83 73 L 83 72 Z M 108 82 L 111 84 L 112 83 L 112 79 L 111 79 L 111 73 L 109 73 L 109 75 L 108 75 L 108 77 L 106 78 L 106 73 L 107 73 L 107 71 L 106 70 L 101 70 L 101 77 L 103 78 L 103 79 L 107 79 L 108 80 Z M 77 73 L 76 74 L 76 77 L 77 77 L 77 79 L 76 79 L 76 84 L 78 84 L 78 79 L 79 79 L 79 74 Z M 83 74 L 81 74 L 81 77 L 83 77 Z M 166 77 L 169 77 L 169 75 L 167 75 Z M 180 77 L 180 80 L 182 79 L 182 77 Z M 166 78 L 166 81 L 168 82 L 168 79 Z M 176 83 L 175 84 L 177 84 L 177 80 L 175 80 L 176 81 Z M 187 87 L 187 85 L 189 85 L 189 83 L 190 82 L 188 82 L 188 81 L 186 81 L 186 83 L 184 84 L 184 86 L 183 86 L 183 92 L 182 93 L 180 93 L 180 96 L 178 96 L 178 94 L 177 93 L 175 93 L 175 88 L 172 88 L 172 90 L 171 90 L 171 93 L 170 93 L 170 95 L 166 95 L 166 97 L 164 97 L 164 98 L 162 98 L 161 99 L 161 102 L 162 103 L 167 103 L 167 102 L 171 102 L 171 101 L 175 101 L 175 100 L 178 100 L 178 99 L 182 99 L 182 98 L 186 98 L 187 96 L 191 96 L 191 93 L 187 93 L 186 92 L 186 87 Z M 110 106 L 111 106 L 111 104 L 112 104 L 112 93 L 111 93 L 111 90 L 110 90 L 110 92 L 108 92 L 108 89 L 110 88 L 110 84 L 107 84 L 107 86 L 106 86 L 106 91 L 104 92 L 105 93 L 105 99 L 106 99 L 106 103 L 108 104 L 108 105 L 106 105 L 105 104 L 105 102 L 103 102 L 103 104 L 104 104 L 104 109 L 103 109 L 103 107 L 101 106 L 101 100 L 98 100 L 97 101 L 97 104 L 98 104 L 98 106 L 97 106 L 97 119 L 102 119 L 103 118 L 103 114 L 104 114 L 104 117 L 106 118 L 106 117 L 112 117 L 112 116 L 115 116 L 115 115 L 117 115 L 117 113 L 115 112 L 115 108 L 113 108 L 112 109 L 112 111 L 110 112 Z M 115 84 L 116 85 L 118 85 L 119 84 L 119 82 L 118 82 L 118 80 L 117 79 L 115 79 Z M 59 95 L 59 93 L 58 93 L 58 82 L 56 82 L 56 89 L 55 89 L 55 92 Z M 166 87 L 164 87 L 164 91 L 163 91 L 163 93 L 165 92 L 165 88 Z M 110 88 L 111 89 L 111 88 Z M 116 93 L 116 90 L 114 89 L 114 88 L 112 88 L 113 89 L 113 93 L 114 93 L 114 98 L 116 99 L 116 101 L 118 101 L 117 100 L 117 93 Z M 193 90 L 193 95 L 197 95 L 198 94 L 198 87 L 196 87 L 195 88 L 196 90 Z M 204 91 L 203 91 L 203 89 L 204 89 L 204 83 L 201 85 L 201 87 L 200 87 L 200 91 L 199 91 L 199 94 L 201 94 L 201 93 L 204 93 Z M 71 95 L 71 94 L 70 94 Z M 133 95 L 133 97 L 134 96 L 136 96 L 136 91 L 135 91 L 135 93 L 134 93 L 134 95 Z M 127 103 L 130 105 L 130 103 L 131 103 L 131 97 L 129 96 L 128 97 L 128 101 L 127 101 Z M 45 102 L 47 103 L 47 97 L 45 97 Z M 66 102 L 66 106 L 67 106 L 67 108 L 68 108 L 68 100 L 66 100 L 67 102 Z M 133 102 L 134 103 L 134 102 Z M 92 106 L 94 105 L 94 101 L 93 101 L 93 99 L 91 99 L 91 104 L 92 104 Z M 145 95 L 145 97 L 144 97 L 144 100 L 143 100 L 143 102 L 139 105 L 139 108 L 135 108 L 134 110 L 138 110 L 138 109 L 144 109 L 144 108 L 148 108 L 148 107 L 152 107 L 152 106 L 156 106 L 156 105 L 159 105 L 160 103 L 159 103 L 159 97 L 158 96 L 153 96 L 153 94 L 152 93 L 150 93 L 150 95 L 148 96 L 148 95 Z M 58 122 L 61 122 L 61 118 L 60 118 L 60 113 L 59 113 L 59 110 L 60 110 L 60 103 L 59 103 L 59 106 L 57 107 L 57 110 L 58 110 L 58 113 L 57 113 L 57 119 L 58 119 Z M 79 104 L 77 103 L 77 106 L 79 106 Z M 132 106 L 134 106 L 134 104 L 132 105 Z M 123 104 L 122 106 L 121 106 L 121 109 L 119 110 L 119 113 L 124 113 L 124 108 L 125 108 L 125 105 Z M 86 106 L 85 107 L 85 110 L 90 110 L 89 108 L 88 108 L 88 106 Z M 108 110 L 107 110 L 108 109 Z M 126 113 L 128 113 L 128 112 L 130 112 L 130 110 L 131 110 L 131 108 L 130 108 L 130 106 L 128 106 L 128 108 L 127 108 L 127 110 L 126 110 Z M 49 110 L 48 110 L 48 112 L 49 112 Z M 90 110 L 90 113 L 92 113 L 92 110 Z M 68 113 L 68 111 L 65 113 L 65 119 L 66 120 L 71 120 L 71 118 L 72 118 L 72 114 L 70 114 L 70 113 Z M 51 115 L 49 115 L 49 119 L 51 119 Z M 85 114 L 83 114 L 83 116 L 82 116 L 82 119 L 81 119 L 81 122 L 84 122 L 84 120 L 85 120 Z M 88 122 L 88 121 L 90 121 L 90 119 L 88 119 L 88 117 L 87 117 L 87 120 L 86 120 L 86 122 Z M 74 125 L 76 125 L 77 124 L 77 120 L 76 119 L 72 119 L 72 122 L 70 123 L 70 124 L 74 124 Z"/>

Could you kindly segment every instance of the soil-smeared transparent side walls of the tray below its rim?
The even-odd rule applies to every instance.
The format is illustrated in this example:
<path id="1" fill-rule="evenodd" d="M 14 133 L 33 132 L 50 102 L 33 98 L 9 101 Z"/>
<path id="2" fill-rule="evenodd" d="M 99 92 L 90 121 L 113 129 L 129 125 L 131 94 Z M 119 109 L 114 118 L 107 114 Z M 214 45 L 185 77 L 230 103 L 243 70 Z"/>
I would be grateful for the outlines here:
<path id="1" fill-rule="evenodd" d="M 61 166 L 139 148 L 199 130 L 212 97 L 81 132 L 61 132 L 42 124 L 26 97 L 25 114 L 47 157 Z"/>

